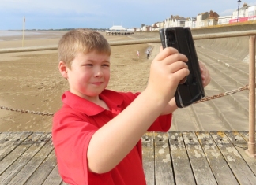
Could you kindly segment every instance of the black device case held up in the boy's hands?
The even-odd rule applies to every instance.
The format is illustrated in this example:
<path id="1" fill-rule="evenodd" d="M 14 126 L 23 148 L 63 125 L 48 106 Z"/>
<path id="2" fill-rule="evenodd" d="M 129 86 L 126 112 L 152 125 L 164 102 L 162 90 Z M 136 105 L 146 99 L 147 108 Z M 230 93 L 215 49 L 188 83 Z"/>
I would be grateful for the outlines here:
<path id="1" fill-rule="evenodd" d="M 198 63 L 198 55 L 194 47 L 194 40 L 190 28 L 171 27 L 160 29 L 160 39 L 163 48 L 174 47 L 179 53 L 188 58 L 189 76 L 186 82 L 179 84 L 175 92 L 175 102 L 179 108 L 191 105 L 205 96 L 201 81 L 201 72 Z"/>

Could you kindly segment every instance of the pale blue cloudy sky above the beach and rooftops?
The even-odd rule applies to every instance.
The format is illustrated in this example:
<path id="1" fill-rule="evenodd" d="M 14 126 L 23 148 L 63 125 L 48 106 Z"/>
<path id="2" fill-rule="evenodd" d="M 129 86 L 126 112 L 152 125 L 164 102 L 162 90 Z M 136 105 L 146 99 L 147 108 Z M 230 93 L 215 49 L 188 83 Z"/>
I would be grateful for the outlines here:
<path id="1" fill-rule="evenodd" d="M 240 6 L 243 6 L 241 2 Z M 256 0 L 248 0 L 256 6 Z M 237 0 L 0 0 L 0 30 L 62 28 L 140 28 L 171 15 L 196 17 L 213 10 L 232 15 Z"/>

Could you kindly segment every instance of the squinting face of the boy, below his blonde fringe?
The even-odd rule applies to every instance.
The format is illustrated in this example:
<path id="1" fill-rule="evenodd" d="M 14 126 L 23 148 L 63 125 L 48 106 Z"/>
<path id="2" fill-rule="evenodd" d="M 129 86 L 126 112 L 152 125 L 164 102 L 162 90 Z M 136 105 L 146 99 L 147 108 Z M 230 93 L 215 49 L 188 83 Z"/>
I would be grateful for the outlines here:
<path id="1" fill-rule="evenodd" d="M 78 53 L 72 61 L 71 69 L 66 68 L 70 92 L 88 100 L 98 97 L 104 91 L 109 78 L 110 56 L 96 51 Z"/>

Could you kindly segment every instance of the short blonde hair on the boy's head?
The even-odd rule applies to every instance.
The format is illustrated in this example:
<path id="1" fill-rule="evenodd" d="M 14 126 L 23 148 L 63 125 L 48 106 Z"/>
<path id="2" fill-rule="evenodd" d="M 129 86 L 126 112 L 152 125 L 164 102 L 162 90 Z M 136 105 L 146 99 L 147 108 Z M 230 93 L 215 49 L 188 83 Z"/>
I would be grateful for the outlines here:
<path id="1" fill-rule="evenodd" d="M 111 55 L 111 47 L 99 32 L 86 29 L 74 29 L 62 36 L 58 43 L 58 61 L 64 61 L 71 68 L 77 53 L 88 54 L 96 50 L 99 54 Z"/>

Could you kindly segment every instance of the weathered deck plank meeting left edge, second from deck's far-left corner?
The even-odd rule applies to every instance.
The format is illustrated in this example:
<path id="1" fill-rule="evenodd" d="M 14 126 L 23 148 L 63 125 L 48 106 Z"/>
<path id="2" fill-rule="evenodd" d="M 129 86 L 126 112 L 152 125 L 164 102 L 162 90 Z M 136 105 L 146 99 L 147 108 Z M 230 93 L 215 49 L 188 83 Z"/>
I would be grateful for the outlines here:
<path id="1" fill-rule="evenodd" d="M 0 161 L 27 139 L 32 132 L 13 132 L 0 141 Z"/>

